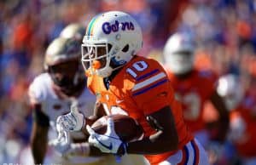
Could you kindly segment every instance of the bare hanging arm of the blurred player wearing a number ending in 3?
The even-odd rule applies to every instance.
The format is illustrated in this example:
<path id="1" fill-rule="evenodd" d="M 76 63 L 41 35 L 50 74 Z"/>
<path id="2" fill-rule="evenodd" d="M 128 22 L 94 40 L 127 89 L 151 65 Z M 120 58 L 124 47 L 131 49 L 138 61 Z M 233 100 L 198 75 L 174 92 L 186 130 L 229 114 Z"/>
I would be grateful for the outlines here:
<path id="1" fill-rule="evenodd" d="M 212 101 L 212 105 L 214 105 L 219 114 L 218 132 L 215 135 L 216 137 L 213 137 L 213 139 L 223 142 L 226 138 L 226 134 L 230 125 L 229 111 L 224 105 L 224 100 L 222 100 L 222 98 L 218 95 L 217 91 L 213 92 L 210 99 Z"/>

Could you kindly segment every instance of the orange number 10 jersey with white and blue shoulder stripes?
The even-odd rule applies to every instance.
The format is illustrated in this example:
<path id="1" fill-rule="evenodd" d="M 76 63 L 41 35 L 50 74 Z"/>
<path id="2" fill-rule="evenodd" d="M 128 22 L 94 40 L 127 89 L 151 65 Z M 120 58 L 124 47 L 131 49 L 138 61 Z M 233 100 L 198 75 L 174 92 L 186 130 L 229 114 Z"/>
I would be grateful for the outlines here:
<path id="1" fill-rule="evenodd" d="M 183 122 L 181 105 L 175 100 L 166 71 L 155 60 L 136 56 L 113 78 L 107 89 L 102 77 L 88 77 L 88 88 L 102 102 L 107 114 L 123 113 L 133 117 L 148 137 L 155 131 L 146 120 L 148 114 L 169 105 L 175 118 L 179 138 L 178 149 L 182 149 L 193 136 Z M 146 156 L 151 164 L 164 161 L 172 152 Z"/>

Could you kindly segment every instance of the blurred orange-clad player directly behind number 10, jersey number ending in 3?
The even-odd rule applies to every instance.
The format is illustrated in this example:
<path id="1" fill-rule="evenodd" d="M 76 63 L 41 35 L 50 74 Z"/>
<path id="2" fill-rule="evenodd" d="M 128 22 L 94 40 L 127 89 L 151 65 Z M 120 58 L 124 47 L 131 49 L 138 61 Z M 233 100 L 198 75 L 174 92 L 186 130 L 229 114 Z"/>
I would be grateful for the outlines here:
<path id="1" fill-rule="evenodd" d="M 212 71 L 194 67 L 195 43 L 187 33 L 177 32 L 166 42 L 165 67 L 175 96 L 183 105 L 183 117 L 195 137 L 207 147 L 209 133 L 203 121 L 203 105 L 209 100 L 218 110 L 218 134 L 214 139 L 224 142 L 229 128 L 229 113 L 216 91 L 217 77 Z"/>

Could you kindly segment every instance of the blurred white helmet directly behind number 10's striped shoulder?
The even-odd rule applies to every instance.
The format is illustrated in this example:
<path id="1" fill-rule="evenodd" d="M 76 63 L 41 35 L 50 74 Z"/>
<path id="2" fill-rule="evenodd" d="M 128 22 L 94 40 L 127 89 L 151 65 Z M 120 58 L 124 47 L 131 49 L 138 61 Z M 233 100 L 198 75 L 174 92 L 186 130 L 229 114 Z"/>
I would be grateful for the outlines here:
<path id="1" fill-rule="evenodd" d="M 163 55 L 166 65 L 174 74 L 184 74 L 193 69 L 195 43 L 188 33 L 177 32 L 166 42 Z"/>

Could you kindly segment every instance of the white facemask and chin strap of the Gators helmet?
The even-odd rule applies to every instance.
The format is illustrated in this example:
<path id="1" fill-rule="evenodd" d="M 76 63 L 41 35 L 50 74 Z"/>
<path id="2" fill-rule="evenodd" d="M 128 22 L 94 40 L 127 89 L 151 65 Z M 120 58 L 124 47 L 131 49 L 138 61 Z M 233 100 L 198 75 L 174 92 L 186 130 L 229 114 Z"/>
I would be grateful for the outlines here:
<path id="1" fill-rule="evenodd" d="M 113 71 L 125 65 L 126 61 L 131 60 L 129 54 L 129 44 L 124 48 L 113 48 L 111 43 L 94 42 L 82 44 L 82 64 L 86 74 L 96 74 L 100 77 L 109 77 Z M 133 54 L 132 54 L 133 55 Z M 122 59 L 128 57 L 129 59 Z"/>

